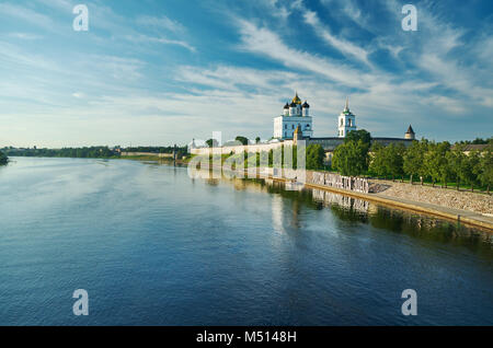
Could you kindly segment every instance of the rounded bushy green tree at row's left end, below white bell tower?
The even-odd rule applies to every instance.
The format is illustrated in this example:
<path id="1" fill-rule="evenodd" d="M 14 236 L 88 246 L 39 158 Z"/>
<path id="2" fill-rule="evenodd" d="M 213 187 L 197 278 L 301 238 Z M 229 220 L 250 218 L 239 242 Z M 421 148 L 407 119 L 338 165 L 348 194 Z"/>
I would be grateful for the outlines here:
<path id="1" fill-rule="evenodd" d="M 340 144 L 334 150 L 332 164 L 342 175 L 357 176 L 368 170 L 369 144 L 351 140 Z"/>

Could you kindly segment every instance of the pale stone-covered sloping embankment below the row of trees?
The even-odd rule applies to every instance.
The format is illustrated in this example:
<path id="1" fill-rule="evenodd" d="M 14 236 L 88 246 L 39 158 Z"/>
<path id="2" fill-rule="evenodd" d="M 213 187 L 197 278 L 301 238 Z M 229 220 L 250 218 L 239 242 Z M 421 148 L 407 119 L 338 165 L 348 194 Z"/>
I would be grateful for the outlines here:
<path id="1" fill-rule="evenodd" d="M 421 186 L 419 183 L 370 181 L 370 193 L 380 197 L 403 198 L 442 207 L 493 214 L 493 196 L 440 187 Z"/>

